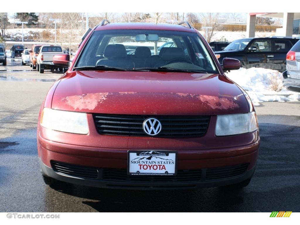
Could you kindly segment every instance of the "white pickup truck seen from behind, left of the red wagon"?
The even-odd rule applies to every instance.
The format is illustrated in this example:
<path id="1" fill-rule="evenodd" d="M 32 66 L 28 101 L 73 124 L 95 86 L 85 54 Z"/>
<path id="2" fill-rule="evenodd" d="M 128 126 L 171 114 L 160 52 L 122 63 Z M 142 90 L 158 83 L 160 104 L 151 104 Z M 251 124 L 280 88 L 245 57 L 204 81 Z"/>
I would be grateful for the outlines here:
<path id="1" fill-rule="evenodd" d="M 57 54 L 64 54 L 61 46 L 58 45 L 43 45 L 37 56 L 37 70 L 44 73 L 44 70 L 57 70 L 66 72 L 68 67 L 60 67 L 53 64 L 53 56 Z"/>

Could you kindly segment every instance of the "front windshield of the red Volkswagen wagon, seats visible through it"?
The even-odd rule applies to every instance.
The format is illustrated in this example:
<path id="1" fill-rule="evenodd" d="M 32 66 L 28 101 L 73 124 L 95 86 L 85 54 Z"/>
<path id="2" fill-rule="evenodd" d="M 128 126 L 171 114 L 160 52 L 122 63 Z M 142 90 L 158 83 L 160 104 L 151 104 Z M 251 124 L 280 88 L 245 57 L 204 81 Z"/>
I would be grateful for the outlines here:
<path id="1" fill-rule="evenodd" d="M 95 31 L 75 69 L 218 73 L 196 33 L 163 30 Z"/>

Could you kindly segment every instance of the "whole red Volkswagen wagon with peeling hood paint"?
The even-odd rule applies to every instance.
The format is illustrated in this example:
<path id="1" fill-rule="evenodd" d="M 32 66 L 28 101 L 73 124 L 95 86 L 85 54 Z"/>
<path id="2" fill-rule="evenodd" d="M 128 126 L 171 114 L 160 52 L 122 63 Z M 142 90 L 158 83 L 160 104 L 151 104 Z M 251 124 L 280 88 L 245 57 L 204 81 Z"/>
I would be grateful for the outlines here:
<path id="1" fill-rule="evenodd" d="M 158 48 L 167 42 L 159 51 Z M 245 91 L 188 23 L 109 23 L 86 36 L 48 91 L 38 156 L 50 186 L 121 189 L 244 187 L 259 130 Z"/>

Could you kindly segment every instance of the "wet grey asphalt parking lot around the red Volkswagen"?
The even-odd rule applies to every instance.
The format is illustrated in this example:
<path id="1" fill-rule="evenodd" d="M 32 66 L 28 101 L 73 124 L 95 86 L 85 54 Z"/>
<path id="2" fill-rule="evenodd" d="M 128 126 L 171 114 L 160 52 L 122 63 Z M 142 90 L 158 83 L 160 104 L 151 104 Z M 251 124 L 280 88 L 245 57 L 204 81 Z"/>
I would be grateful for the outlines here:
<path id="1" fill-rule="evenodd" d="M 300 211 L 300 102 L 256 107 L 261 145 L 256 173 L 243 190 L 110 190 L 44 184 L 38 164 L 40 105 L 62 73 L 40 74 L 20 59 L 0 65 L 0 212 Z"/>

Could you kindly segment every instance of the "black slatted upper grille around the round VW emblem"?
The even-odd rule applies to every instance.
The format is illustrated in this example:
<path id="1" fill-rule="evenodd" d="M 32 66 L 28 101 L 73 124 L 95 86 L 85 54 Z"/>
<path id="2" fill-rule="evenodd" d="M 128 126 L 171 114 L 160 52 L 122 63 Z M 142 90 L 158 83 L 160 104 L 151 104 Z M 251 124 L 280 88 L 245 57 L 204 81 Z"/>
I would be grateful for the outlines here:
<path id="1" fill-rule="evenodd" d="M 149 137 L 143 131 L 143 122 L 153 117 L 161 122 L 160 134 L 155 137 L 203 136 L 210 116 L 140 116 L 93 114 L 99 134 Z"/>

